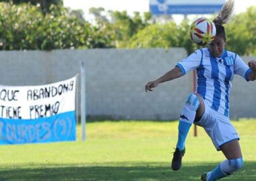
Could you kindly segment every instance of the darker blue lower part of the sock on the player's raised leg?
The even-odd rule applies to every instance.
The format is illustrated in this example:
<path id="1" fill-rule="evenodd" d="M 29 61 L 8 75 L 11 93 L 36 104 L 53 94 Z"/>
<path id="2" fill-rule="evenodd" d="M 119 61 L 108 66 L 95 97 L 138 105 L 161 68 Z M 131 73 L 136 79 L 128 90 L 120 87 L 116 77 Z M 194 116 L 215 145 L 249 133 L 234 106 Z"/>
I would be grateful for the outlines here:
<path id="1" fill-rule="evenodd" d="M 179 121 L 179 138 L 176 145 L 176 147 L 178 147 L 179 150 L 183 150 L 185 147 L 185 141 L 186 141 L 187 133 L 189 133 L 190 127 L 191 127 L 190 123 Z"/>

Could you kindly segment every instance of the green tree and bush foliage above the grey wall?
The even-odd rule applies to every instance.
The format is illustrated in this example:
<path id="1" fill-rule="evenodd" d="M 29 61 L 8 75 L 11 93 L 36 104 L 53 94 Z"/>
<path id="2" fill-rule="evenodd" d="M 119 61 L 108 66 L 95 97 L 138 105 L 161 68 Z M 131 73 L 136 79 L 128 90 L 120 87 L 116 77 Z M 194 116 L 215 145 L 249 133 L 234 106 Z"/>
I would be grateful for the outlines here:
<path id="1" fill-rule="evenodd" d="M 127 11 L 108 11 L 107 15 L 98 7 L 90 9 L 95 17 L 92 25 L 81 10 L 71 11 L 61 0 L 8 2 L 0 3 L 0 50 L 184 47 L 190 54 L 198 48 L 189 38 L 188 19 L 156 23 L 149 12 L 134 12 L 131 17 Z M 255 19 L 256 7 L 251 7 L 225 25 L 227 50 L 256 55 Z"/>

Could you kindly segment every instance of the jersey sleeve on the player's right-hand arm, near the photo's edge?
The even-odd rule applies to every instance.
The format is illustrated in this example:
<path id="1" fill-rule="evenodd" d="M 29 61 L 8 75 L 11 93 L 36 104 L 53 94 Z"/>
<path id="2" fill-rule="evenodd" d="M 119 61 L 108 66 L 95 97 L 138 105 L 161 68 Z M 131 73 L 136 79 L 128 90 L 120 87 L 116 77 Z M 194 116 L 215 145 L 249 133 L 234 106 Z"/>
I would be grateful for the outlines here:
<path id="1" fill-rule="evenodd" d="M 238 74 L 245 78 L 245 80 L 248 80 L 248 76 L 251 72 L 251 69 L 245 62 L 242 60 L 242 58 L 238 55 L 236 55 L 236 58 L 234 59 L 234 74 Z"/>

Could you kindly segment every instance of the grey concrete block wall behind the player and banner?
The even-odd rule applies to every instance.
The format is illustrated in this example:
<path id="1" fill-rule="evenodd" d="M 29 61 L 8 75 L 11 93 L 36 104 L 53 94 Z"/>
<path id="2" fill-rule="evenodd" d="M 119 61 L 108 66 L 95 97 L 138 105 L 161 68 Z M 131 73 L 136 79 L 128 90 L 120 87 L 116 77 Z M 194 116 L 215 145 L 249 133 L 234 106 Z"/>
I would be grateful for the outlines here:
<path id="1" fill-rule="evenodd" d="M 192 91 L 192 74 L 160 84 L 152 93 L 145 93 L 144 86 L 186 56 L 183 48 L 1 51 L 0 84 L 38 85 L 64 80 L 77 74 L 84 61 L 89 117 L 177 119 L 185 97 Z M 245 62 L 253 59 L 243 58 Z M 245 82 L 238 76 L 234 79 L 230 116 L 256 117 L 255 82 Z"/>

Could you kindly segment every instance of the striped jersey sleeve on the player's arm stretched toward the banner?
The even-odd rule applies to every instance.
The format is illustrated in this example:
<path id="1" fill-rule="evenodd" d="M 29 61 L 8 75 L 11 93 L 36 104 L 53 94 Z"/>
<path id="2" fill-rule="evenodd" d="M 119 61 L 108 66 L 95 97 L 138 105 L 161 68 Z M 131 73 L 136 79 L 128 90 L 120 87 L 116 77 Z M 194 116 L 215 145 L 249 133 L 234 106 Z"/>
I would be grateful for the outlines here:
<path id="1" fill-rule="evenodd" d="M 185 75 L 187 72 L 199 67 L 202 55 L 202 50 L 196 50 L 193 54 L 181 60 L 176 66 L 179 67 L 183 75 Z"/>

